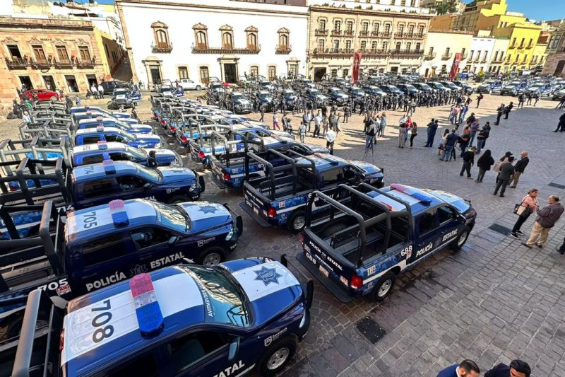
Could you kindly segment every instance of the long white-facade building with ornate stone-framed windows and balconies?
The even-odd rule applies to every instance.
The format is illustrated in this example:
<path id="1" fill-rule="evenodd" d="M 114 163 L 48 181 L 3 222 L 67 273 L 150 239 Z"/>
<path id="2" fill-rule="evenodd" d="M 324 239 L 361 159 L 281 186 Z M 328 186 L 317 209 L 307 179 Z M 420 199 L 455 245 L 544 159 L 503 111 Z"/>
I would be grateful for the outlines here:
<path id="1" fill-rule="evenodd" d="M 304 74 L 308 8 L 230 0 L 116 0 L 134 80 L 235 83 Z"/>

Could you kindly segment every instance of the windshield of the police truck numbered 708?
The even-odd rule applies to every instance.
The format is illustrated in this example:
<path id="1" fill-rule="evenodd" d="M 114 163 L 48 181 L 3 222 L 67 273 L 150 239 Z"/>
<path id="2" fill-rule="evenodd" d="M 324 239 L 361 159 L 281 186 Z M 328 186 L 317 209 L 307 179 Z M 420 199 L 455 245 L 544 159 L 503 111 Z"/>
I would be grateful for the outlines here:
<path id="1" fill-rule="evenodd" d="M 221 267 L 183 266 L 200 289 L 206 322 L 249 326 L 249 314 L 242 287 Z"/>

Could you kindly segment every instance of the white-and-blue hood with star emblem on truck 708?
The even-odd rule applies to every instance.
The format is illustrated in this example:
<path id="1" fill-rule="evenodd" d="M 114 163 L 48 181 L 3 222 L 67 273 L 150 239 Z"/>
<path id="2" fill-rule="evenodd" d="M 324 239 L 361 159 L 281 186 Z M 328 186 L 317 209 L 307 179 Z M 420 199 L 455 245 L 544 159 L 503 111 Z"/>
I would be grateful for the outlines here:
<path id="1" fill-rule="evenodd" d="M 246 258 L 221 265 L 242 286 L 254 311 L 256 325 L 280 315 L 302 298 L 296 277 L 280 262 L 269 258 Z"/>

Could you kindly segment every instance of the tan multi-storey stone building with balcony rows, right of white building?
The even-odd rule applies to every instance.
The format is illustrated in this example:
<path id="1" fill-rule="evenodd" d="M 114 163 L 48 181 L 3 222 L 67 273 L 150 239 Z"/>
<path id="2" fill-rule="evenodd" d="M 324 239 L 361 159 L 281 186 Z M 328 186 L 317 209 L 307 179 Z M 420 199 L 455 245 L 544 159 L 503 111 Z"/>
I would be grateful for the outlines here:
<path id="1" fill-rule="evenodd" d="M 417 71 L 431 18 L 428 9 L 383 2 L 311 5 L 307 76 L 316 81 L 326 75 L 349 76 L 355 52 L 362 54 L 360 74 Z"/>

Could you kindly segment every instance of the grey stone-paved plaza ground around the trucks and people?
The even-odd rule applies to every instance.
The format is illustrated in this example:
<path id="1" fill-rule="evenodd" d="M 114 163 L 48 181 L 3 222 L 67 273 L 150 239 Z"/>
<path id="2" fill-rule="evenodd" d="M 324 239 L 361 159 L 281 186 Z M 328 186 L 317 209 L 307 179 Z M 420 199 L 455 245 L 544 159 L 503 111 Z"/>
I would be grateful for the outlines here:
<path id="1" fill-rule="evenodd" d="M 471 110 L 481 124 L 487 120 L 492 124 L 496 105 L 509 100 L 517 102 L 515 98 L 485 95 L 481 108 Z M 90 103 L 97 105 L 94 100 Z M 552 230 L 543 250 L 526 249 L 520 241 L 488 228 L 492 224 L 512 226 L 516 216 L 511 213 L 513 204 L 531 187 L 540 189 L 540 199 L 553 193 L 565 196 L 564 190 L 548 186 L 554 182 L 565 188 L 561 148 L 565 135 L 550 132 L 562 113 L 552 110 L 555 104 L 542 100 L 538 108 L 515 110 L 509 120 L 492 126 L 487 149 L 492 149 L 494 158 L 507 150 L 516 156 L 522 150 L 530 152 L 530 165 L 518 188 L 507 190 L 504 198 L 492 195 L 494 173 L 487 173 L 483 183 L 467 180 L 458 175 L 459 158 L 455 163 L 442 162 L 435 148 L 422 147 L 430 118 L 439 117 L 441 125 L 448 126 L 444 122 L 447 107 L 417 109 L 413 119 L 422 128 L 415 149 L 398 149 L 396 127 L 387 127 L 386 137 L 379 139 L 374 149 L 374 161 L 385 169 L 386 183 L 441 188 L 471 199 L 478 212 L 477 226 L 459 252 L 444 250 L 401 275 L 393 294 L 382 303 L 357 298 L 342 304 L 315 280 L 309 333 L 283 375 L 436 376 L 439 369 L 464 357 L 475 359 L 487 370 L 496 362 L 520 356 L 533 366 L 534 376 L 565 376 L 565 284 L 559 279 L 565 272 L 565 258 L 553 251 L 564 236 L 565 219 Z M 143 101 L 138 112 L 148 119 L 148 101 Z M 388 124 L 398 124 L 401 113 L 387 113 Z M 257 115 L 250 117 L 258 119 Z M 271 119 L 266 115 L 266 120 Z M 343 124 L 336 155 L 362 159 L 361 121 L 355 116 Z M 297 115 L 295 129 L 298 123 Z M 438 130 L 436 141 L 442 131 Z M 311 137 L 307 141 L 325 144 Z M 201 166 L 187 163 L 206 173 Z M 473 168 L 472 174 L 476 173 Z M 219 190 L 208 178 L 206 183 L 202 199 L 239 208 L 240 192 Z M 283 253 L 294 256 L 301 251 L 299 236 L 285 229 L 261 228 L 243 216 L 244 234 L 232 258 L 279 258 Z M 533 216 L 523 230 L 532 223 Z M 366 317 L 386 330 L 376 344 L 370 344 L 356 328 Z"/>

